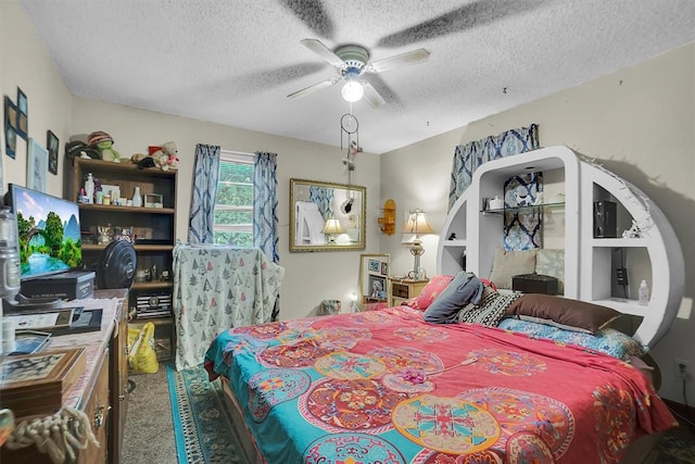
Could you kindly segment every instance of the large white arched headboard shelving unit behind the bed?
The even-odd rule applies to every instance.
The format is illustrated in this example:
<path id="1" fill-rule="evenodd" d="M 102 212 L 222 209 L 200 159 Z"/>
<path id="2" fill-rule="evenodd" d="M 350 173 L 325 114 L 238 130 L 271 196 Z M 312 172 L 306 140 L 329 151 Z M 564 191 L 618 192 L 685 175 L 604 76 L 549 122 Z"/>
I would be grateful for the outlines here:
<path id="1" fill-rule="evenodd" d="M 502 244 L 503 215 L 483 208 L 485 198 L 503 197 L 510 176 L 543 172 L 560 179 L 554 193 L 560 204 L 543 204 L 544 216 L 561 229 L 552 247 L 564 250 L 566 298 L 614 308 L 642 316 L 635 338 L 654 347 L 675 318 L 684 292 L 683 253 L 670 223 L 644 192 L 615 173 L 566 147 L 549 147 L 482 164 L 471 185 L 450 210 L 438 246 L 438 272 L 455 274 L 463 268 L 489 277 L 495 248 Z M 545 198 L 551 196 L 545 193 Z M 616 237 L 595 234 L 594 204 L 616 203 Z M 549 221 L 547 221 L 549 223 Z M 622 231 L 635 224 L 635 236 Z M 545 225 L 543 226 L 545 227 Z M 455 234 L 455 240 L 446 238 Z M 605 235 L 604 235 L 605 236 Z M 628 267 L 629 288 L 616 283 L 616 268 Z M 652 289 L 646 306 L 637 304 L 637 286 L 645 279 Z"/>

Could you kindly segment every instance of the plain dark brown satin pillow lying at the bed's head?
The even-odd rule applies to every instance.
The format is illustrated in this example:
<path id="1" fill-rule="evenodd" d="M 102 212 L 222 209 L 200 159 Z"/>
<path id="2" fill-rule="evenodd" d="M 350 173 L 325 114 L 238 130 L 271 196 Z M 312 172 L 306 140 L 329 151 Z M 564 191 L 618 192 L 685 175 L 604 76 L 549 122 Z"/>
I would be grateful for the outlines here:
<path id="1" fill-rule="evenodd" d="M 507 310 L 508 316 L 589 334 L 595 334 L 621 314 L 598 304 L 541 293 L 526 293 Z"/>

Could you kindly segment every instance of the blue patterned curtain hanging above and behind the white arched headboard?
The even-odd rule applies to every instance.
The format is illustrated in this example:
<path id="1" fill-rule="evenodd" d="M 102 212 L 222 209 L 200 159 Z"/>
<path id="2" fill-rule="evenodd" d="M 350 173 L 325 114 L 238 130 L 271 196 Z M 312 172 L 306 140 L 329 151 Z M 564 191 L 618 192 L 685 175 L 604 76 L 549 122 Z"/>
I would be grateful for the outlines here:
<path id="1" fill-rule="evenodd" d="M 452 209 L 458 197 L 468 188 L 473 173 L 481 164 L 538 148 L 538 124 L 531 124 L 529 127 L 507 130 L 496 136 L 457 146 L 454 150 L 448 209 Z"/>

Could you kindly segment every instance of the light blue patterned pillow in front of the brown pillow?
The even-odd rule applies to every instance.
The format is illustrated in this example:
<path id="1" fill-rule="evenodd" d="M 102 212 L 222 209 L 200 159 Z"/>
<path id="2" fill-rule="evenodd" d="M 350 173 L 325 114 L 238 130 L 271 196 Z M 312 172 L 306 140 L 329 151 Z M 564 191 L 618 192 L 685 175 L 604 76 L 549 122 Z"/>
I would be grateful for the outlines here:
<path id="1" fill-rule="evenodd" d="M 500 322 L 498 327 L 504 330 L 525 334 L 530 338 L 542 338 L 553 340 L 556 343 L 574 344 L 622 361 L 630 361 L 632 356 L 643 356 L 648 351 L 646 346 L 634 338 L 610 327 L 602 328 L 592 335 L 515 318 L 503 319 Z"/>

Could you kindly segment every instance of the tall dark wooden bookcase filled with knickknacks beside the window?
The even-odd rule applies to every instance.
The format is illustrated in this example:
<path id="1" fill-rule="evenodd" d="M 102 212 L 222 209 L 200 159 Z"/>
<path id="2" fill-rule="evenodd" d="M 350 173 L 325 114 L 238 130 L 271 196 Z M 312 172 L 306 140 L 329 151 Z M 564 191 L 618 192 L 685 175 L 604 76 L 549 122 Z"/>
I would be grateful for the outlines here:
<path id="1" fill-rule="evenodd" d="M 132 199 L 136 189 L 148 199 L 156 199 L 143 201 L 142 206 L 118 205 L 113 201 L 111 204 L 79 203 L 79 222 L 83 258 L 86 266 L 93 271 L 100 268 L 101 254 L 108 244 L 99 241 L 99 228 L 109 226 L 113 235 L 131 230 L 137 269 L 128 305 L 135 322 L 154 323 L 157 358 L 169 359 L 176 346 L 170 311 L 177 171 L 140 170 L 135 164 L 76 158 L 72 168 L 67 170 L 63 196 L 76 200 L 89 173 L 101 186 L 117 187 L 124 199 Z"/>

